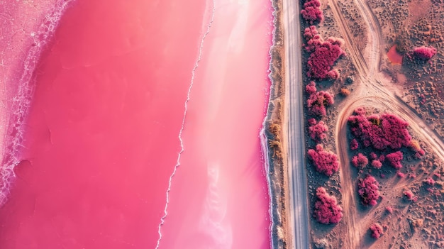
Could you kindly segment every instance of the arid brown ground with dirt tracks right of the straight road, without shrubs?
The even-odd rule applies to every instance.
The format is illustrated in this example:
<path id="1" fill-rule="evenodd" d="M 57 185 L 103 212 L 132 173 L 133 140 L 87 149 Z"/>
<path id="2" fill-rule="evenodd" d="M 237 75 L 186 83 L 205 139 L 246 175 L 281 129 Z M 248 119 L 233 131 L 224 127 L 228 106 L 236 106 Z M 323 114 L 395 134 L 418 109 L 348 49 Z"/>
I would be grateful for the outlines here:
<path id="1" fill-rule="evenodd" d="M 306 2 L 309 1 L 301 1 L 301 9 Z M 311 214 L 311 246 L 444 248 L 443 1 L 320 2 L 323 18 L 301 21 L 301 31 L 304 33 L 305 28 L 313 25 L 321 39 L 333 37 L 333 45 L 334 40 L 343 39 L 341 48 L 346 55 L 332 66 L 340 76 L 320 79 L 310 74 L 312 69 L 308 66 L 313 49 L 302 48 L 303 68 L 309 72 L 304 75 L 304 84 L 315 81 L 318 90 L 335 96 L 334 104 L 326 104 L 326 114 L 315 115 L 313 111 L 310 113 L 310 106 L 306 107 L 306 147 L 313 149 L 321 143 L 324 150 L 335 153 L 340 162 L 337 172 L 333 170 L 333 174 L 325 175 L 319 172 L 313 156 L 307 158 L 309 210 L 316 209 L 316 189 L 324 187 L 337 199 L 343 216 L 338 223 L 325 224 Z M 309 46 L 311 42 L 307 39 L 304 45 Z M 387 57 L 394 45 L 396 55 L 401 57 L 399 63 Z M 436 54 L 419 60 L 414 51 L 420 47 L 433 47 Z M 307 104 L 311 94 L 307 90 Z M 358 153 L 368 157 L 373 151 L 371 146 L 362 144 L 357 150 L 350 150 L 350 141 L 355 136 L 350 132 L 352 126 L 348 118 L 359 107 L 365 108 L 367 116 L 394 114 L 409 124 L 406 129 L 411 140 L 418 142 L 396 148 L 401 155 L 404 153 L 399 162 L 402 167 L 391 167 L 390 156 L 385 162 L 382 159 L 382 167 L 370 166 L 370 163 L 365 164 L 366 167 L 351 165 Z M 328 131 L 324 138 L 310 137 L 310 118 L 325 123 Z M 418 150 L 424 150 L 425 155 L 415 154 Z M 387 157 L 395 148 L 374 151 Z M 380 197 L 370 205 L 363 204 L 358 194 L 360 179 L 367 175 L 379 182 Z M 382 229 L 377 234 L 370 231 L 374 223 Z"/>

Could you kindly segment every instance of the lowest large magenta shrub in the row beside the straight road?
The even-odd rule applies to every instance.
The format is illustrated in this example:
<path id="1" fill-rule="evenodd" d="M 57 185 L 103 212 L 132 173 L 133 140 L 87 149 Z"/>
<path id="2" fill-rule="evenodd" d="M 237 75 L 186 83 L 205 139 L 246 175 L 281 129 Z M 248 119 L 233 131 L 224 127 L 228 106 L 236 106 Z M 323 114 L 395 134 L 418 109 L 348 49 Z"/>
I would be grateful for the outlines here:
<path id="1" fill-rule="evenodd" d="M 316 189 L 318 201 L 314 204 L 316 221 L 323 224 L 338 223 L 343 218 L 343 209 L 337 204 L 336 198 L 327 194 L 326 189 Z"/>

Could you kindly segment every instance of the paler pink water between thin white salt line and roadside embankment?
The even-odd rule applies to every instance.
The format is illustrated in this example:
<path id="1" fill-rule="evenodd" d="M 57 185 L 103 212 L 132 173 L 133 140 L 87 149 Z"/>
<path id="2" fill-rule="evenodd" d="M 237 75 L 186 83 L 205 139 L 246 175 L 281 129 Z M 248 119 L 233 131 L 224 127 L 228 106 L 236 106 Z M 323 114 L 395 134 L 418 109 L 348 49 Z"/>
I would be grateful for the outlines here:
<path id="1" fill-rule="evenodd" d="M 214 2 L 160 248 L 270 248 L 260 154 L 270 1 Z"/>

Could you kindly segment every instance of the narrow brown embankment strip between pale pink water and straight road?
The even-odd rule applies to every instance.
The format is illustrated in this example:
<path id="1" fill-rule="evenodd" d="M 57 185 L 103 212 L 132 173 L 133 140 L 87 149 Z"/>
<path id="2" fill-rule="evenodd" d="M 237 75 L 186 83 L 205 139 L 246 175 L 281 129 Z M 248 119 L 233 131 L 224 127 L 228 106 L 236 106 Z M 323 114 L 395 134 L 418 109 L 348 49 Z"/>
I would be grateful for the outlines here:
<path id="1" fill-rule="evenodd" d="M 289 182 L 287 164 L 284 158 L 284 38 L 282 27 L 282 0 L 272 1 L 274 8 L 273 45 L 270 49 L 270 103 L 265 120 L 267 143 L 267 177 L 270 185 L 270 212 L 272 215 L 272 248 L 289 248 L 292 236 L 289 224 Z"/>

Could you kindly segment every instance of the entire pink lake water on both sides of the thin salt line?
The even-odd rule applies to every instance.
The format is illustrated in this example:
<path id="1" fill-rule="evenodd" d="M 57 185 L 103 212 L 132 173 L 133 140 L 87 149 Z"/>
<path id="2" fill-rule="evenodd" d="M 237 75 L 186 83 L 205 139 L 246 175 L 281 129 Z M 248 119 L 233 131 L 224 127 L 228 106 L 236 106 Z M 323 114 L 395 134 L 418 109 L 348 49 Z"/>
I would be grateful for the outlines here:
<path id="1" fill-rule="evenodd" d="M 0 248 L 155 248 L 211 1 L 78 0 L 41 57 Z M 216 1 L 160 248 L 270 248 L 269 1 Z"/>

